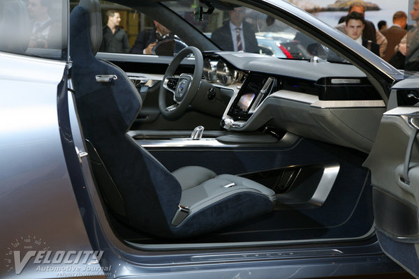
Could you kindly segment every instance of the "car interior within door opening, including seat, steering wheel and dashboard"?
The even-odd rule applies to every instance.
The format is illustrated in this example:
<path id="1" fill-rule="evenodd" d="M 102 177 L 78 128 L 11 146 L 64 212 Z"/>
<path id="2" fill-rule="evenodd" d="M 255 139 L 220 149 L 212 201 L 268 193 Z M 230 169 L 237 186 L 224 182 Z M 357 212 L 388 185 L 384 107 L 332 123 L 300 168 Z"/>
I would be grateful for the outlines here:
<path id="1" fill-rule="evenodd" d="M 174 59 L 97 53 L 98 1 L 70 16 L 75 101 L 119 239 L 158 248 L 371 236 L 362 163 L 387 102 L 371 76 L 344 59 L 214 51 L 163 3 L 132 8 L 159 8 L 189 47 Z"/>

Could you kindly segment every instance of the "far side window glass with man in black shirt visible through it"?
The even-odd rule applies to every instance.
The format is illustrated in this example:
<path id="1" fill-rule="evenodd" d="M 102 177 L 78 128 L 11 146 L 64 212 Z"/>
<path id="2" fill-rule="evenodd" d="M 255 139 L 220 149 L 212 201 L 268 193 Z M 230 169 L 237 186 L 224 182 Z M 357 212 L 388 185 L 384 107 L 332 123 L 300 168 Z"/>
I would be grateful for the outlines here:
<path id="1" fill-rule="evenodd" d="M 137 10 L 101 1 L 103 38 L 100 52 L 173 56 L 186 44 L 151 17 Z"/>

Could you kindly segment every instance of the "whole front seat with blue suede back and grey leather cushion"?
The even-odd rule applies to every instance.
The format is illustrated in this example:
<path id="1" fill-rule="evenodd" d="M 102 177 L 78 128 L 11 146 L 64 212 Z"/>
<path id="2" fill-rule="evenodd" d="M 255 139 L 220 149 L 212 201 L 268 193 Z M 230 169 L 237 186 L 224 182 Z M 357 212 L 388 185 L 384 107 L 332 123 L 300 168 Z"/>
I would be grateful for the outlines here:
<path id="1" fill-rule="evenodd" d="M 142 100 L 124 71 L 96 59 L 101 34 L 98 1 L 81 0 L 70 16 L 71 75 L 91 167 L 113 216 L 142 232 L 181 238 L 272 211 L 269 188 L 198 166 L 170 173 L 127 135 Z"/>

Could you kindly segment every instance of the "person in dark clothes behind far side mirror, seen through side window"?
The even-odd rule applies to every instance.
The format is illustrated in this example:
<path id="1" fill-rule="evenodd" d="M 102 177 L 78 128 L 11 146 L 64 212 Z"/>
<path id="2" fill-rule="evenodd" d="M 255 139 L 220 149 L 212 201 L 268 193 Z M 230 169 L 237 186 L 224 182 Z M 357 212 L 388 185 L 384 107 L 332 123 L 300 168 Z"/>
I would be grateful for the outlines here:
<path id="1" fill-rule="evenodd" d="M 130 52 L 134 54 L 152 54 L 154 45 L 161 40 L 175 38 L 169 29 L 153 20 L 154 29 L 152 31 L 140 31 L 135 39 L 135 43 Z"/>

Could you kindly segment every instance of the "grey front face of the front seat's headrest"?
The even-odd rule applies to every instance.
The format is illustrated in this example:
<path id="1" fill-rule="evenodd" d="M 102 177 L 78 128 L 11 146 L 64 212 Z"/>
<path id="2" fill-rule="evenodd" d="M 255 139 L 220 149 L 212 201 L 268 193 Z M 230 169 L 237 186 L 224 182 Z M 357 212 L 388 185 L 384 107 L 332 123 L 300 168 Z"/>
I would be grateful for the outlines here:
<path id="1" fill-rule="evenodd" d="M 80 0 L 78 6 L 89 12 L 90 47 L 93 55 L 96 55 L 102 43 L 101 5 L 98 0 Z"/>

